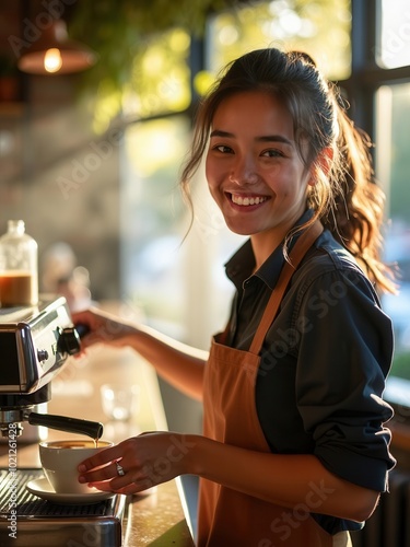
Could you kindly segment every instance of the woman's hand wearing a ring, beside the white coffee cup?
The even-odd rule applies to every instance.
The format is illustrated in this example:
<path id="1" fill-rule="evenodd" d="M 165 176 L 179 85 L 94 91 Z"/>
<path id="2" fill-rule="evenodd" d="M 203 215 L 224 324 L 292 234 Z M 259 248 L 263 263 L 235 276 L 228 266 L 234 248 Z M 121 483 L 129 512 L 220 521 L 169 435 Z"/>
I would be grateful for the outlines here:
<path id="1" fill-rule="evenodd" d="M 79 466 L 79 481 L 104 491 L 141 492 L 189 473 L 195 446 L 195 435 L 142 433 L 85 459 Z"/>

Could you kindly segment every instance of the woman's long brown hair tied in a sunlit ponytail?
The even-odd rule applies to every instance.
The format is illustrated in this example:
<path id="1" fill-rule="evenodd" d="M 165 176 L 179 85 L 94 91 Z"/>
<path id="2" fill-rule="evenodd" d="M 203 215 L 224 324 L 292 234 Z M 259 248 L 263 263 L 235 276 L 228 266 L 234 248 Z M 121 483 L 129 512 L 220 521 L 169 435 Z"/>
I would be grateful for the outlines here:
<path id="1" fill-rule="evenodd" d="M 258 49 L 226 67 L 197 113 L 190 155 L 181 173 L 190 206 L 189 183 L 206 152 L 215 110 L 224 98 L 245 91 L 272 93 L 293 118 L 298 153 L 316 176 L 308 195 L 315 211 L 309 223 L 320 219 L 380 291 L 395 292 L 393 272 L 380 258 L 385 196 L 375 184 L 371 140 L 348 117 L 338 89 L 305 54 Z M 326 166 L 319 161 L 325 149 L 331 150 Z"/>

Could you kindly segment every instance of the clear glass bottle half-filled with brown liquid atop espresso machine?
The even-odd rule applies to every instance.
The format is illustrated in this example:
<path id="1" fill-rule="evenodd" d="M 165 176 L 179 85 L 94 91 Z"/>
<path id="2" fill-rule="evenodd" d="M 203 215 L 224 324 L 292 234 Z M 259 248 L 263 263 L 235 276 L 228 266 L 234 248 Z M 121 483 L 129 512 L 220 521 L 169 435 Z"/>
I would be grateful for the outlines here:
<path id="1" fill-rule="evenodd" d="M 25 233 L 23 220 L 9 220 L 0 237 L 1 307 L 38 303 L 37 243 Z"/>

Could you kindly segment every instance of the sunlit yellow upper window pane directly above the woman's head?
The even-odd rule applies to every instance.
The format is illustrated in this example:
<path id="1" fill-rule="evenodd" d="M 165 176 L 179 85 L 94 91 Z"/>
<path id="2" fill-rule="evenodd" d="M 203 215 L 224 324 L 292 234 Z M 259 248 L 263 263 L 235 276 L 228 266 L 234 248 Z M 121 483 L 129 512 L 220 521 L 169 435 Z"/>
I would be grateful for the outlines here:
<path id="1" fill-rule="evenodd" d="M 351 71 L 350 27 L 350 0 L 256 2 L 213 18 L 208 68 L 218 73 L 250 49 L 274 46 L 306 51 L 328 79 L 340 81 Z"/>

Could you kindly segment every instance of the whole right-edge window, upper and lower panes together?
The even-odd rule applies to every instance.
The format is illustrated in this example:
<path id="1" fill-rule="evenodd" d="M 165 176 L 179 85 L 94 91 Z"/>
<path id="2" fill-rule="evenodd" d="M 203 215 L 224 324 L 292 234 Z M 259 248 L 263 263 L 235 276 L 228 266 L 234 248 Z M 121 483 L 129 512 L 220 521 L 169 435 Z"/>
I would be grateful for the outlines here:
<path id="1" fill-rule="evenodd" d="M 383 70 L 375 82 L 375 158 L 387 195 L 385 256 L 399 269 L 399 295 L 383 298 L 395 330 L 391 374 L 410 380 L 410 5 L 406 0 L 394 4 L 393 10 L 391 2 L 376 3 L 375 61 Z"/>

